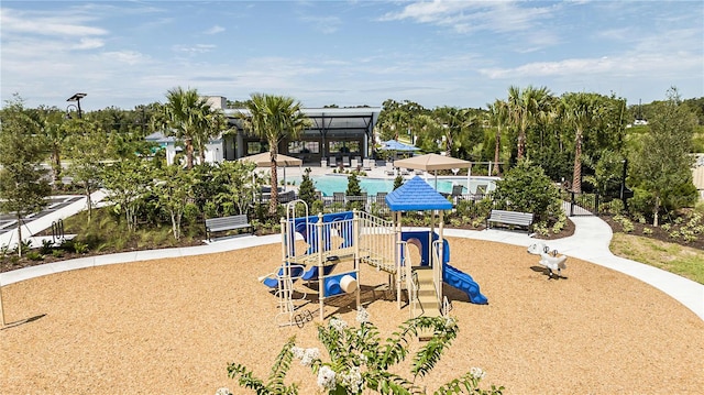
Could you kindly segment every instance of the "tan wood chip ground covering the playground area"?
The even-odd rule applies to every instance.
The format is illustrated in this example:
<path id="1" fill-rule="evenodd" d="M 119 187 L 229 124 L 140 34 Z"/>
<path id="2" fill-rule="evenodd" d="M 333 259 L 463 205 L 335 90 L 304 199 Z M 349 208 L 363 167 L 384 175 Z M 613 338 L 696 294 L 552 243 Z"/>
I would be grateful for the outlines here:
<path id="1" fill-rule="evenodd" d="M 568 259 L 548 279 L 525 248 L 450 238 L 451 264 L 487 296 L 472 305 L 449 286 L 460 333 L 417 383 L 435 391 L 472 366 L 506 394 L 702 394 L 704 321 L 627 275 Z M 257 277 L 280 264 L 280 245 L 90 267 L 2 287 L 2 394 L 215 394 L 239 362 L 266 378 L 286 340 L 321 347 L 316 322 L 275 323 L 276 299 Z M 362 301 L 383 337 L 408 318 L 385 292 L 386 275 L 362 266 Z M 296 284 L 306 289 L 304 284 Z M 318 321 L 317 292 L 308 309 Z M 354 323 L 354 297 L 327 300 L 326 316 Z M 407 367 L 404 365 L 403 367 Z M 406 371 L 408 372 L 408 371 Z M 410 374 L 406 373 L 410 378 Z M 289 382 L 318 393 L 294 363 Z"/>

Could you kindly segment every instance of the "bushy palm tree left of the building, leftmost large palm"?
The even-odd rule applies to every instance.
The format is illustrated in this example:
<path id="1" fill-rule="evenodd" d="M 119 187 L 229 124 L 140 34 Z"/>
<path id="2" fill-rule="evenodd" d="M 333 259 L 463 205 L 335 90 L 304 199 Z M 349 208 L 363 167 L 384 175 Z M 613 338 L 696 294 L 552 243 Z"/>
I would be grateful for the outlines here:
<path id="1" fill-rule="evenodd" d="M 194 167 L 195 144 L 202 152 L 208 140 L 208 114 L 210 106 L 205 98 L 198 96 L 198 90 L 174 88 L 166 94 L 168 102 L 165 106 L 166 127 L 168 134 L 176 135 L 184 141 L 186 149 L 186 167 Z"/>

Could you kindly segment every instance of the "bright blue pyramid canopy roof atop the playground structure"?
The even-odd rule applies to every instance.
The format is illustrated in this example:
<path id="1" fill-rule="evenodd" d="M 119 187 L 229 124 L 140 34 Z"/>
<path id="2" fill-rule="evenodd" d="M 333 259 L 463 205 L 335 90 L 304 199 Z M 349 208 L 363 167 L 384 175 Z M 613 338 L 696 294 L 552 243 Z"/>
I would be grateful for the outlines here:
<path id="1" fill-rule="evenodd" d="M 418 176 L 386 195 L 386 205 L 392 211 L 452 209 L 452 202 Z"/>

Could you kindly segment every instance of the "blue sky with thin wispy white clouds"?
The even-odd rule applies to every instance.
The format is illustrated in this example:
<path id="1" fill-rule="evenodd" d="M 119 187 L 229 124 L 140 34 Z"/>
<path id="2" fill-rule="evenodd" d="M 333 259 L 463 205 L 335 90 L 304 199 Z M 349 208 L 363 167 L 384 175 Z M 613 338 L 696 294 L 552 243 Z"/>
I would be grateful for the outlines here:
<path id="1" fill-rule="evenodd" d="M 9 1 L 2 100 L 85 110 L 174 87 L 305 107 L 486 107 L 508 87 L 704 96 L 702 1 Z"/>

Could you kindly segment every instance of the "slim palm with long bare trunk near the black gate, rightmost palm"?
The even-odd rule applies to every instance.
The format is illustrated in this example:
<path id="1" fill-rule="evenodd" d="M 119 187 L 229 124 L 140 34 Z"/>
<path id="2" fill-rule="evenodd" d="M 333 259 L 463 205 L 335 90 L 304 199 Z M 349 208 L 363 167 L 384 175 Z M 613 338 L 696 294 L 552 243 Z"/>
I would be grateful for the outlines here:
<path id="1" fill-rule="evenodd" d="M 584 132 L 600 113 L 596 95 L 566 94 L 562 97 L 566 121 L 574 128 L 574 168 L 572 171 L 572 190 L 582 193 L 582 141 Z"/>

